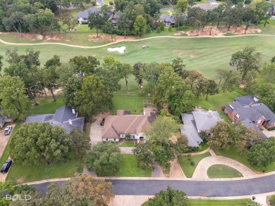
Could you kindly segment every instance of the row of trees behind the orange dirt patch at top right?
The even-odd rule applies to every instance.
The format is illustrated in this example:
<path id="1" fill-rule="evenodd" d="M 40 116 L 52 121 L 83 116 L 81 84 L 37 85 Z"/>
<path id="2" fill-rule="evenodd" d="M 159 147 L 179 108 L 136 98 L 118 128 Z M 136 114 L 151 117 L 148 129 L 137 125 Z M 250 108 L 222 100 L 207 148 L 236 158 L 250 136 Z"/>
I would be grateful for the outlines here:
<path id="1" fill-rule="evenodd" d="M 206 25 L 211 26 L 209 35 L 211 35 L 212 27 L 216 25 L 219 27 L 220 22 L 226 22 L 228 31 L 231 27 L 238 27 L 245 23 L 245 32 L 251 25 L 258 25 L 259 22 L 264 20 L 264 26 L 271 17 L 271 13 L 267 13 L 268 9 L 271 7 L 267 1 L 255 1 L 250 4 L 246 1 L 245 4 L 250 4 L 247 7 L 243 7 L 243 1 L 225 1 L 220 4 L 214 10 L 205 11 L 199 7 L 192 7 L 190 2 L 190 8 L 188 8 L 188 24 L 197 30 L 197 34 Z M 233 6 L 234 4 L 237 4 Z M 177 14 L 179 15 L 179 14 Z M 176 23 L 177 25 L 177 23 Z"/>

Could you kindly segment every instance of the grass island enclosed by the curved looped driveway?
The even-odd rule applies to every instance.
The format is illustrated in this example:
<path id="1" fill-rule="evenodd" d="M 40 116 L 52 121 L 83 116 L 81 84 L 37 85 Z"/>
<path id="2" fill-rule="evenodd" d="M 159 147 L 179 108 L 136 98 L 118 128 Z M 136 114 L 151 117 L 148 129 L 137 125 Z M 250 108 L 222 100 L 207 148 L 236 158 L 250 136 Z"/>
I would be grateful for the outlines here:
<path id="1" fill-rule="evenodd" d="M 226 165 L 212 165 L 208 168 L 207 175 L 212 179 L 243 177 L 243 174 L 238 172 L 237 169 L 228 167 Z"/>

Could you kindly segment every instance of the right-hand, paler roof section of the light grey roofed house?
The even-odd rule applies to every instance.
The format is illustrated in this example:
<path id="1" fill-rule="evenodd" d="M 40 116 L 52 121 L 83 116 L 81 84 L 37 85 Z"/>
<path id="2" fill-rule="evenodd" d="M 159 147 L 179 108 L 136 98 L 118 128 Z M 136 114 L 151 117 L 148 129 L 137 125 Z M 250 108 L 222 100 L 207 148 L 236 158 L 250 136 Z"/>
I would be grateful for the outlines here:
<path id="1" fill-rule="evenodd" d="M 216 111 L 205 111 L 201 109 L 194 110 L 192 112 L 197 125 L 197 129 L 200 131 L 210 130 L 211 127 L 216 125 L 216 122 L 224 121 Z"/>

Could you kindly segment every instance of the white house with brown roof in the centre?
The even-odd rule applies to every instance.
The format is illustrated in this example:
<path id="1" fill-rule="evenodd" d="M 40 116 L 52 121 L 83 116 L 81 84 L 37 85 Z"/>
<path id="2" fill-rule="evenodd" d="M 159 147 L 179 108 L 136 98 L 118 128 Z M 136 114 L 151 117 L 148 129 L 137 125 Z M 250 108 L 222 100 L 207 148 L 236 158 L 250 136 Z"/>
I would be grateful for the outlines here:
<path id="1" fill-rule="evenodd" d="M 116 141 L 129 136 L 138 142 L 145 138 L 142 129 L 145 129 L 156 117 L 156 110 L 144 108 L 142 115 L 130 115 L 130 110 L 118 110 L 116 115 L 105 117 L 102 141 Z"/>

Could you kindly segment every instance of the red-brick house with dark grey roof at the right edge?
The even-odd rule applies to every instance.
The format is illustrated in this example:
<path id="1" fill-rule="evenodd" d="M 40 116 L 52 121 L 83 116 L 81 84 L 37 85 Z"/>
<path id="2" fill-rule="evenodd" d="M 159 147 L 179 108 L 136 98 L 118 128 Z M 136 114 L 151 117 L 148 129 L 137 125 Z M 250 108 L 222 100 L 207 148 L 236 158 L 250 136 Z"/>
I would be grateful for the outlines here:
<path id="1" fill-rule="evenodd" d="M 264 103 L 259 103 L 258 96 L 247 95 L 234 98 L 233 102 L 225 106 L 224 113 L 232 122 L 248 119 L 256 127 L 275 128 L 274 112 Z"/>

